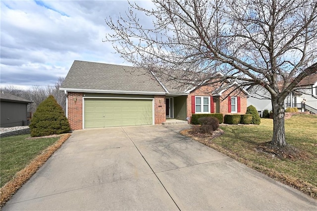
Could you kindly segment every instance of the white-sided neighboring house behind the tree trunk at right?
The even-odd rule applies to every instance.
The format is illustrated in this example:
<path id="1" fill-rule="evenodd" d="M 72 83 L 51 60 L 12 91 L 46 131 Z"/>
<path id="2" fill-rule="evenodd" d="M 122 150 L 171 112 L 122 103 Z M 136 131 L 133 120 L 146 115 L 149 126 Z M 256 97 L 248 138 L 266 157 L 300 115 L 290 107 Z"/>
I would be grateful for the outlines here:
<path id="1" fill-rule="evenodd" d="M 272 110 L 269 93 L 261 86 L 256 85 L 249 87 L 248 106 L 253 105 L 259 113 L 264 109 Z M 267 98 L 267 99 L 265 99 Z M 303 107 L 306 111 L 317 113 L 317 73 L 305 77 L 297 87 L 285 98 L 284 107 Z"/>

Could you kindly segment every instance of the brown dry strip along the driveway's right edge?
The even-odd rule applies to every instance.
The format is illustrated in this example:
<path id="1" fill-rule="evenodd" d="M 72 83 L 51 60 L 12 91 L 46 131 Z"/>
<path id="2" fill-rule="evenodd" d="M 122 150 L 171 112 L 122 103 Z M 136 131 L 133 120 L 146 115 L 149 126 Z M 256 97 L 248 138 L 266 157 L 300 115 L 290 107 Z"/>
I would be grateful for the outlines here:
<path id="1" fill-rule="evenodd" d="M 233 158 L 235 160 L 237 160 L 238 162 L 241 162 L 243 164 L 245 164 L 246 166 L 260 172 L 260 173 L 263 173 L 265 175 L 267 175 L 268 177 L 276 180 L 276 181 L 279 181 L 285 185 L 288 185 L 288 186 L 291 186 L 299 191 L 301 191 L 302 193 L 314 198 L 314 199 L 317 199 L 317 186 L 314 186 L 308 182 L 305 182 L 299 178 L 296 178 L 296 177 L 293 177 L 293 176 L 290 176 L 290 175 L 285 175 L 285 174 L 282 174 L 274 169 L 271 169 L 271 168 L 267 168 L 263 165 L 259 165 L 259 164 L 256 164 L 246 158 L 241 158 L 239 157 L 236 153 L 228 150 L 228 149 L 225 149 L 215 143 L 212 143 L 211 140 L 207 139 L 207 138 L 198 138 L 198 137 L 195 137 L 191 134 L 189 134 L 187 132 L 188 130 L 183 130 L 181 131 L 181 134 L 182 135 L 185 135 L 197 142 L 200 142 L 230 158 Z"/>

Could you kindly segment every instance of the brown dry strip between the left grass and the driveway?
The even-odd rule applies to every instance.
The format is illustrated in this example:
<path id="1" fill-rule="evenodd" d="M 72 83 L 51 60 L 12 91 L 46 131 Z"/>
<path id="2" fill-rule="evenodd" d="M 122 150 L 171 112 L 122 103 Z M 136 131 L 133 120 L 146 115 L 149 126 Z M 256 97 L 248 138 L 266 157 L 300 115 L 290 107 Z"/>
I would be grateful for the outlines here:
<path id="1" fill-rule="evenodd" d="M 0 208 L 13 196 L 13 194 L 26 182 L 31 176 L 58 150 L 61 145 L 70 137 L 70 133 L 63 134 L 53 145 L 43 150 L 40 155 L 31 160 L 31 162 L 22 170 L 18 171 L 13 179 L 5 183 L 0 188 Z"/>

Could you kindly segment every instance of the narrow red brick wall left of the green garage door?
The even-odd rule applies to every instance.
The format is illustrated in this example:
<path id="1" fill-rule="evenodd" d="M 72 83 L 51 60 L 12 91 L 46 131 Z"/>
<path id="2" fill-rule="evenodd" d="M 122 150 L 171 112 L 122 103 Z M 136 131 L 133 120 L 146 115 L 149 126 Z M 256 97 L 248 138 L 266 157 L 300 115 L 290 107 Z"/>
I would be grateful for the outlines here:
<path id="1" fill-rule="evenodd" d="M 83 129 L 83 93 L 68 93 L 67 118 L 72 130 Z"/>

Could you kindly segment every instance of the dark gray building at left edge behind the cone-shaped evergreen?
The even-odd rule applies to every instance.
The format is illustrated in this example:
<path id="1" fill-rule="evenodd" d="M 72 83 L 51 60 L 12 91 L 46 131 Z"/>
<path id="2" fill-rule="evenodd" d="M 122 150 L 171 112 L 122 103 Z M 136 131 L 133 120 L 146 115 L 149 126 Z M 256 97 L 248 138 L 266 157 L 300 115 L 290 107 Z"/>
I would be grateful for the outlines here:
<path id="1" fill-rule="evenodd" d="M 1 122 L 0 127 L 14 127 L 28 125 L 27 105 L 31 101 L 15 95 L 0 93 Z"/>

